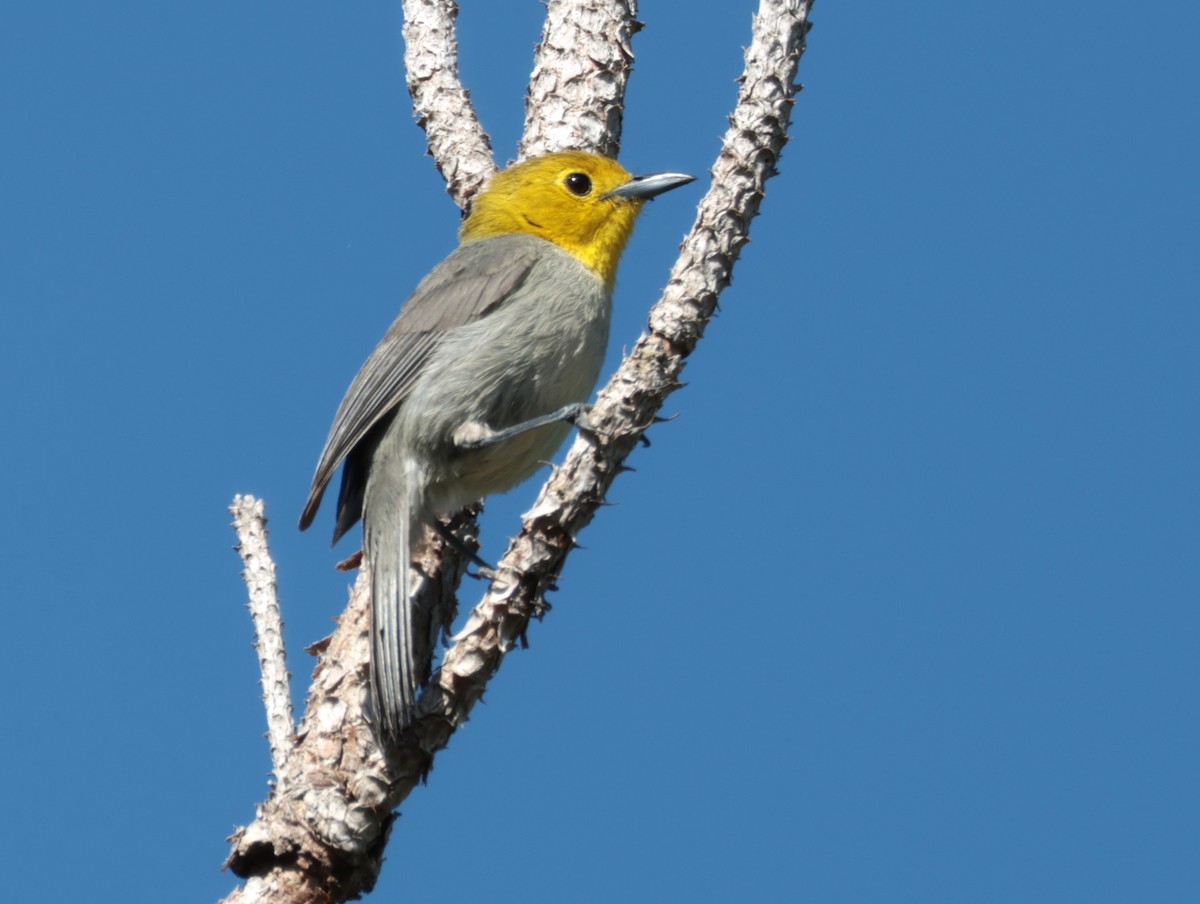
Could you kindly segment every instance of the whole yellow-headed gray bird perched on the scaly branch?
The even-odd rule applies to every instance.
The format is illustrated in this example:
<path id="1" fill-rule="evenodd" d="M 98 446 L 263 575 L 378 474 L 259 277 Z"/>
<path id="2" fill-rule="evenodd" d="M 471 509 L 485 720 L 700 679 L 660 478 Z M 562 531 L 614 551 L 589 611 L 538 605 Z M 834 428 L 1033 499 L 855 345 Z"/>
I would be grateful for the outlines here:
<path id="1" fill-rule="evenodd" d="M 475 197 L 458 246 L 402 305 L 352 381 L 300 516 L 338 467 L 336 544 L 360 519 L 371 575 L 371 719 L 395 742 L 428 677 L 437 613 L 409 568 L 425 526 L 545 463 L 587 405 L 617 264 L 643 204 L 694 181 L 568 150 L 515 163 Z"/>

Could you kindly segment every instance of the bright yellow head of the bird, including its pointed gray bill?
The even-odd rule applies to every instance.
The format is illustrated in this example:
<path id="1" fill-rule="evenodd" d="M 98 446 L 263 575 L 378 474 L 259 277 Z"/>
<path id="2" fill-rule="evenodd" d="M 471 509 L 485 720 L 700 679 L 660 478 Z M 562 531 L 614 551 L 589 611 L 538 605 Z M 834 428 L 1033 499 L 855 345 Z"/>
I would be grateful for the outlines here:
<path id="1" fill-rule="evenodd" d="M 642 204 L 691 180 L 677 173 L 631 176 L 617 161 L 586 151 L 545 154 L 497 173 L 475 198 L 458 238 L 540 235 L 611 286 Z"/>

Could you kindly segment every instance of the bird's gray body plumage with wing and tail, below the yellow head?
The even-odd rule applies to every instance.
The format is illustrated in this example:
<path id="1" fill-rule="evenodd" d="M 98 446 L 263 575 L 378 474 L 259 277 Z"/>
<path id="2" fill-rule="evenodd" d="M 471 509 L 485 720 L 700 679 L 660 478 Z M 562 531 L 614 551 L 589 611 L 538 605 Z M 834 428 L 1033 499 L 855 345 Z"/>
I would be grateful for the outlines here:
<path id="1" fill-rule="evenodd" d="M 516 486 L 570 426 L 553 423 L 473 450 L 456 438 L 586 401 L 604 360 L 610 310 L 610 287 L 545 239 L 472 241 L 421 281 L 347 390 L 300 527 L 312 523 L 342 465 L 334 541 L 362 519 L 372 689 L 386 735 L 412 720 L 440 622 L 438 613 L 412 611 L 408 593 L 422 526 Z"/>

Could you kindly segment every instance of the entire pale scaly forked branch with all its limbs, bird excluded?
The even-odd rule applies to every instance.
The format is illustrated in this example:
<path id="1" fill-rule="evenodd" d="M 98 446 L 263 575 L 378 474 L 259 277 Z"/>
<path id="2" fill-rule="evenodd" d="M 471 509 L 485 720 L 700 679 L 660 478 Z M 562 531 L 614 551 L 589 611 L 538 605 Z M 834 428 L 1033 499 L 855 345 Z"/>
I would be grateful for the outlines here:
<path id="1" fill-rule="evenodd" d="M 235 498 L 230 511 L 258 637 L 275 784 L 254 821 L 230 838 L 226 866 L 246 882 L 228 902 L 348 900 L 373 887 L 395 808 L 428 774 L 436 753 L 467 720 L 530 618 L 545 611 L 544 594 L 574 538 L 604 504 L 667 396 L 682 385 L 686 358 L 728 286 L 787 140 L 810 6 L 810 0 L 761 0 L 712 184 L 650 310 L 648 331 L 593 405 L 588 420 L 594 435 L 576 437 L 523 516 L 497 563 L 497 579 L 452 637 L 422 690 L 418 719 L 392 749 L 379 748 L 364 713 L 370 683 L 366 574 L 359 575 L 337 629 L 320 646 L 305 714 L 293 730 L 264 508 L 252 497 Z M 467 205 L 496 164 L 458 82 L 456 7 L 451 0 L 403 0 L 403 7 L 418 121 L 448 191 Z M 630 38 L 638 28 L 631 0 L 550 0 L 522 156 L 568 146 L 616 155 L 632 62 Z M 430 532 L 414 562 L 416 595 L 452 603 L 467 558 Z"/>

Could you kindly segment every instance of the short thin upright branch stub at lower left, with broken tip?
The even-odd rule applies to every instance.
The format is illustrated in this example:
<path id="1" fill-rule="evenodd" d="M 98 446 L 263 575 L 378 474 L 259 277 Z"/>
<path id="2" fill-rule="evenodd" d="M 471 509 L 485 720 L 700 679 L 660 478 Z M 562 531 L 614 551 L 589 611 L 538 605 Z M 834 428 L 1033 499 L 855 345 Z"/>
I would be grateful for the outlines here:
<path id="1" fill-rule="evenodd" d="M 250 591 L 246 607 L 254 622 L 254 649 L 263 675 L 263 704 L 266 707 L 266 737 L 276 789 L 287 776 L 287 760 L 295 744 L 292 692 L 283 649 L 283 618 L 275 586 L 275 562 L 266 543 L 266 516 L 262 499 L 235 496 L 229 514 L 238 531 L 238 552 L 245 563 L 241 576 Z"/>

